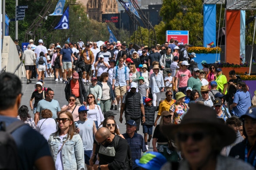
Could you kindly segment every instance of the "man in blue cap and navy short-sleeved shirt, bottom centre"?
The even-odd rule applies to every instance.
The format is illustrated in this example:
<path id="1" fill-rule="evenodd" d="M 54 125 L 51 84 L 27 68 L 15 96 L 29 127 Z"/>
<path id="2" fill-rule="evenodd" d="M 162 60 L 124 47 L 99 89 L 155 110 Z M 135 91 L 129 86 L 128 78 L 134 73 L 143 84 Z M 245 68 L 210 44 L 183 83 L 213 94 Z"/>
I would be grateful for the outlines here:
<path id="1" fill-rule="evenodd" d="M 141 151 L 144 153 L 147 151 L 146 145 L 142 135 L 136 133 L 136 122 L 134 120 L 128 120 L 126 125 L 126 133 L 122 134 L 124 139 L 127 140 L 131 149 L 132 155 L 132 170 L 140 170 L 141 168 L 135 163 L 136 159 L 141 158 Z"/>

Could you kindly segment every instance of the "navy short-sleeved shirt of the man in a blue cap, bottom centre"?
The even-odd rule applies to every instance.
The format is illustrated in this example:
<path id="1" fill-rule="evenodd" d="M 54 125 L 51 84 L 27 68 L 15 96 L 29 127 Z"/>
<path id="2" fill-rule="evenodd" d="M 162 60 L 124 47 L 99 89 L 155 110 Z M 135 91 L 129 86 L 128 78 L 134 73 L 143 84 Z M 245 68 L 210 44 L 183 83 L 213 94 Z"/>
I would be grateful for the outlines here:
<path id="1" fill-rule="evenodd" d="M 134 136 L 130 138 L 130 136 L 127 133 L 122 134 L 124 136 L 124 139 L 127 140 L 128 145 L 131 149 L 131 156 L 132 156 L 132 169 L 139 167 L 136 163 L 136 159 L 141 158 L 141 151 L 144 153 L 147 151 L 144 139 L 142 135 L 138 133 L 134 133 Z"/>

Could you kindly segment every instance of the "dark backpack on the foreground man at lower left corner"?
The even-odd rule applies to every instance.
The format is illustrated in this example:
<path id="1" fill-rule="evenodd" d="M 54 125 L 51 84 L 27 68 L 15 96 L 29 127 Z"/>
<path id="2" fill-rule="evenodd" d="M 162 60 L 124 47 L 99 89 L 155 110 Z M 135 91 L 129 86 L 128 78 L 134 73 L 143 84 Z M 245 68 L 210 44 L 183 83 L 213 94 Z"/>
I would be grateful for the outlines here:
<path id="1" fill-rule="evenodd" d="M 25 125 L 22 121 L 14 121 L 10 125 L 5 125 L 4 121 L 0 122 L 0 169 L 19 169 L 19 158 L 18 158 L 18 149 L 16 142 L 14 141 L 11 133 L 19 128 L 20 126 Z"/>

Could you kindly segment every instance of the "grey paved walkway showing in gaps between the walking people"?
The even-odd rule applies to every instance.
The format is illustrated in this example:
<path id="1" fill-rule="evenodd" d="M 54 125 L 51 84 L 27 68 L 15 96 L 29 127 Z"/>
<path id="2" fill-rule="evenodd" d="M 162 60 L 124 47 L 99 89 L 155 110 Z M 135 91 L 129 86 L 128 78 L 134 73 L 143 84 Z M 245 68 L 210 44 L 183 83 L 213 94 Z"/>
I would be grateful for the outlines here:
<path id="1" fill-rule="evenodd" d="M 21 105 L 26 105 L 28 106 L 29 108 L 29 114 L 31 115 L 32 118 L 34 118 L 34 115 L 33 115 L 33 112 L 31 111 L 30 107 L 29 107 L 29 101 L 30 101 L 30 98 L 31 98 L 31 95 L 33 93 L 33 91 L 35 90 L 35 87 L 34 85 L 36 84 L 37 82 L 37 79 L 32 79 L 32 83 L 30 84 L 27 84 L 27 79 L 26 78 L 22 78 L 21 79 L 21 83 L 22 83 L 22 93 L 23 93 L 23 96 L 22 96 L 22 99 L 21 99 Z M 65 98 L 65 92 L 64 92 L 64 89 L 66 87 L 66 84 L 62 83 L 62 82 L 55 82 L 53 78 L 45 78 L 44 80 L 44 87 L 50 87 L 51 89 L 53 89 L 54 91 L 54 98 L 55 100 L 59 101 L 59 104 L 60 104 L 60 108 L 65 105 L 65 104 L 68 104 L 68 101 L 66 101 L 66 98 Z M 87 89 L 88 86 L 85 86 L 85 89 Z M 164 100 L 165 98 L 165 93 L 162 93 L 162 99 Z M 115 116 L 115 120 L 117 122 L 117 125 L 119 126 L 119 129 L 120 129 L 120 132 L 121 134 L 122 133 L 125 133 L 126 131 L 126 126 L 124 125 L 124 121 L 125 121 L 125 118 L 124 118 L 124 115 L 123 115 L 123 123 L 120 123 L 119 121 L 119 117 L 120 117 L 120 112 L 117 112 L 117 111 L 114 111 L 112 110 L 114 113 L 117 113 L 117 115 Z M 157 115 L 157 113 L 156 113 Z M 156 118 L 156 115 L 155 115 L 155 118 Z M 158 123 L 159 123 L 160 119 L 158 120 Z M 143 133 L 142 133 L 142 126 L 140 126 L 139 128 L 139 134 L 141 134 L 143 137 Z M 155 127 L 153 127 L 153 132 L 154 132 L 154 129 Z M 149 147 L 149 150 L 150 151 L 153 151 L 153 146 L 152 146 L 152 140 L 150 142 L 150 147 Z"/>

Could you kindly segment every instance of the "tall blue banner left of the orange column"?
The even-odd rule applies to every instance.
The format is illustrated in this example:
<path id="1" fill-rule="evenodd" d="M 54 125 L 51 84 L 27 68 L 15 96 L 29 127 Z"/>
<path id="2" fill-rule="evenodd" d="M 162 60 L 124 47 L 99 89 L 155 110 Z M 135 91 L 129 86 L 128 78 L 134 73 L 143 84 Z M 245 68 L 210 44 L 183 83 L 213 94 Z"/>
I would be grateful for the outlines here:
<path id="1" fill-rule="evenodd" d="M 203 5 L 203 46 L 216 45 L 216 4 Z"/>

